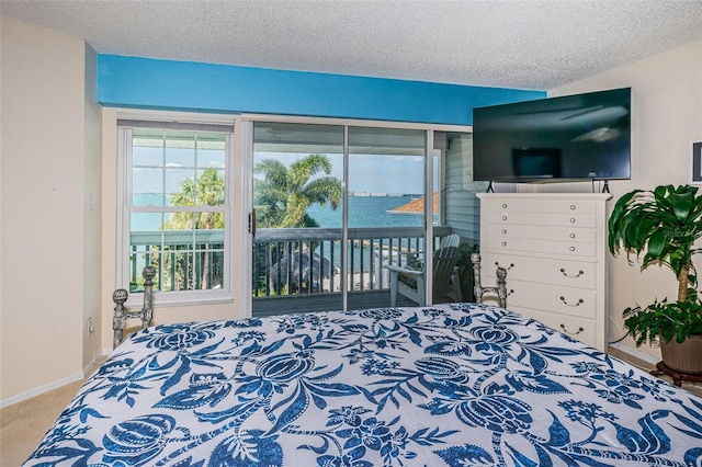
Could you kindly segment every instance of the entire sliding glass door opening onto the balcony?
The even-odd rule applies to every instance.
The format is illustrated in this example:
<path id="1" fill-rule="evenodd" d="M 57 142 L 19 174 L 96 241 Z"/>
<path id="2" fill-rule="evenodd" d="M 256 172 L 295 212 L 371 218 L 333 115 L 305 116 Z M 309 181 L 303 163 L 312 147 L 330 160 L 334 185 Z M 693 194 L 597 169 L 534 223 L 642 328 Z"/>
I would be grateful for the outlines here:
<path id="1" fill-rule="evenodd" d="M 257 121 L 252 135 L 254 316 L 446 300 L 433 257 L 477 218 L 462 213 L 467 134 Z M 415 295 L 390 287 L 393 266 L 415 270 L 399 276 Z"/>

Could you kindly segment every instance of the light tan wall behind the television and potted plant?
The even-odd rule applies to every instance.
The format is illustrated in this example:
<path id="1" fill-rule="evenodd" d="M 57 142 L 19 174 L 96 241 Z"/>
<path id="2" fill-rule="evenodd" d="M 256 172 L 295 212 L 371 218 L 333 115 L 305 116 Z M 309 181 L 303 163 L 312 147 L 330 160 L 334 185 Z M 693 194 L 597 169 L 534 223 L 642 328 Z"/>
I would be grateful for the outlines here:
<path id="1" fill-rule="evenodd" d="M 596 77 L 552 90 L 565 95 L 601 89 L 632 88 L 632 178 L 610 182 L 613 201 L 634 190 L 690 181 L 691 143 L 702 140 L 702 42 L 697 42 Z M 654 298 L 675 299 L 676 280 L 669 270 L 652 266 L 645 272 L 626 258 L 609 258 L 610 339 L 624 334 L 621 312 L 629 306 L 647 305 Z M 636 352 L 634 342 L 622 342 Z M 658 349 L 639 351 L 654 358 Z"/>

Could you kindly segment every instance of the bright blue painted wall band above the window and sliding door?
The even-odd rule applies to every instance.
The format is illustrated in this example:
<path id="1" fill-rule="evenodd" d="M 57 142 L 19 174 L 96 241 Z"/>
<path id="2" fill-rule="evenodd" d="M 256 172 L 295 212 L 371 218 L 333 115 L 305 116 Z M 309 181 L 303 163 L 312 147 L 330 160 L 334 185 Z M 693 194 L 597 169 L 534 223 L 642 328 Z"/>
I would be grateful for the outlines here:
<path id="1" fill-rule="evenodd" d="M 472 125 L 473 109 L 545 91 L 98 56 L 105 106 Z"/>

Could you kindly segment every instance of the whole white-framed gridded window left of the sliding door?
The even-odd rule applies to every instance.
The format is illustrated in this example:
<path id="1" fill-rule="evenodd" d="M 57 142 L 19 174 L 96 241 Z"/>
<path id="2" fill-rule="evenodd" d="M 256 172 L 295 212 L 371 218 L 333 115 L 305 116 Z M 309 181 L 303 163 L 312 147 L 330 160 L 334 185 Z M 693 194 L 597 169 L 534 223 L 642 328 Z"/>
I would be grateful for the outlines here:
<path id="1" fill-rule="evenodd" d="M 123 200 L 120 264 L 123 287 L 169 298 L 229 295 L 233 127 L 120 121 Z M 167 296 L 166 296 L 167 295 Z"/>

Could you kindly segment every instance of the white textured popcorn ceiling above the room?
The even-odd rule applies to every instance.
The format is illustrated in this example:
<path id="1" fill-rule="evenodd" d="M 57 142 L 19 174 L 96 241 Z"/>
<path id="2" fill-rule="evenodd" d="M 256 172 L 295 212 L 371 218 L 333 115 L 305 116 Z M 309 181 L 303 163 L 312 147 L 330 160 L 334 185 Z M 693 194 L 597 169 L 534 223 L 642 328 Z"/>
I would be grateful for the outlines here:
<path id="1" fill-rule="evenodd" d="M 547 90 L 702 39 L 702 0 L 0 0 L 98 53 Z"/>

